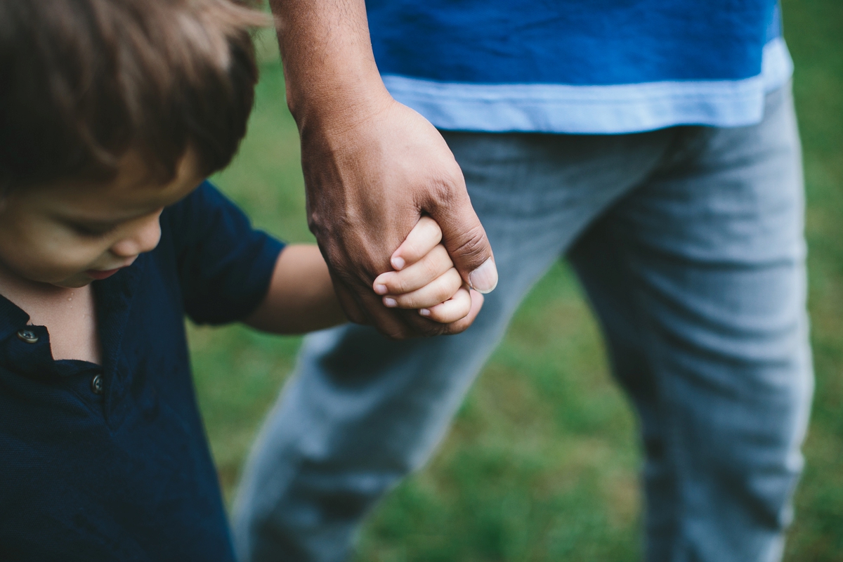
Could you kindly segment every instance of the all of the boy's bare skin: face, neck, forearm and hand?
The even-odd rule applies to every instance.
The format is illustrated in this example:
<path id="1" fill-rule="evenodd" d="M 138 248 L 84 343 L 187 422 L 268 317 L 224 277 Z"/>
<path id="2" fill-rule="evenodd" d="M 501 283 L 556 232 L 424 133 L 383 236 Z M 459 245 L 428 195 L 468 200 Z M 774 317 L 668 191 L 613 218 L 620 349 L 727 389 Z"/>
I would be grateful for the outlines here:
<path id="1" fill-rule="evenodd" d="M 106 183 L 37 185 L 12 190 L 0 200 L 0 293 L 29 313 L 31 324 L 47 327 L 56 360 L 99 363 L 90 284 L 154 249 L 164 207 L 191 193 L 202 179 L 190 157 L 164 185 L 151 182 L 132 155 L 119 172 Z M 383 286 L 395 290 L 388 297 L 397 307 L 410 303 L 424 308 L 421 314 L 428 318 L 467 326 L 482 299 L 454 286 L 453 265 L 431 222 L 420 222 L 395 252 L 394 260 L 405 270 L 395 271 Z M 264 301 L 244 318 L 257 329 L 284 334 L 345 321 L 325 260 L 313 245 L 282 251 Z"/>

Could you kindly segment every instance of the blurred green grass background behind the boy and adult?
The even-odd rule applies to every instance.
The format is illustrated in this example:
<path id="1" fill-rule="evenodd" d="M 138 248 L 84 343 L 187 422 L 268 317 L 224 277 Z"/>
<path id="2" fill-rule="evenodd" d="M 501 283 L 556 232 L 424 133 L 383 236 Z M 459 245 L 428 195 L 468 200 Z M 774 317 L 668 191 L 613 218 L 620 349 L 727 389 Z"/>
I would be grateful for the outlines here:
<path id="1" fill-rule="evenodd" d="M 817 374 L 807 467 L 787 560 L 843 560 L 843 3 L 783 0 L 808 190 Z M 312 241 L 298 133 L 274 35 L 239 157 L 214 179 L 255 223 Z M 196 386 L 229 505 L 255 432 L 300 338 L 189 327 Z M 612 383 L 599 330 L 560 263 L 534 287 L 427 468 L 375 511 L 358 560 L 638 559 L 636 420 Z"/>

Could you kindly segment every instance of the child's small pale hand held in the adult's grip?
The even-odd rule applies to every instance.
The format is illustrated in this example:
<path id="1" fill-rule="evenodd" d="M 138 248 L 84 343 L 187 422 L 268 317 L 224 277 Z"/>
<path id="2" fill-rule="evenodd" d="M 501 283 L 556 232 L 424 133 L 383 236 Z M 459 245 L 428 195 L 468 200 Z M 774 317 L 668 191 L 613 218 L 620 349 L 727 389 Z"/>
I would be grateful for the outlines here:
<path id="1" fill-rule="evenodd" d="M 471 315 L 482 306 L 479 292 L 464 286 L 448 250 L 439 242 L 442 230 L 430 217 L 421 217 L 404 243 L 392 254 L 395 271 L 374 280 L 374 292 L 389 308 L 418 308 L 419 314 L 443 324 Z M 472 307 L 472 301 L 474 306 Z"/>

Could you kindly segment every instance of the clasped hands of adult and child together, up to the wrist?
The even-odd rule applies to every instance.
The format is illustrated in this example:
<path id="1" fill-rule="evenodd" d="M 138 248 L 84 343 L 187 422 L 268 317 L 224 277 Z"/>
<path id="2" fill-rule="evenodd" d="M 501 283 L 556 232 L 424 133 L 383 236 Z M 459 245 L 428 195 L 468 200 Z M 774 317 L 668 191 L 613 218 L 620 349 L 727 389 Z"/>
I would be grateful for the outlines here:
<path id="1" fill-rule="evenodd" d="M 442 135 L 384 96 L 350 114 L 291 104 L 308 224 L 352 322 L 396 340 L 459 334 L 497 285 L 491 245 Z"/>

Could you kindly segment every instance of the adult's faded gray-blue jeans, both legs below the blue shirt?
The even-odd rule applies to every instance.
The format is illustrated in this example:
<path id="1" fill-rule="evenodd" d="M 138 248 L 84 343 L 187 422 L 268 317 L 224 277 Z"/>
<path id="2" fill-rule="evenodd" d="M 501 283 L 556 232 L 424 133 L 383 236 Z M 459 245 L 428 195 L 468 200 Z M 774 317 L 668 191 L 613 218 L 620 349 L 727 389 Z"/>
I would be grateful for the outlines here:
<path id="1" fill-rule="evenodd" d="M 444 136 L 497 290 L 461 335 L 309 336 L 245 470 L 239 556 L 346 559 L 368 510 L 443 438 L 518 302 L 566 255 L 640 420 L 647 559 L 780 559 L 813 390 L 790 88 L 743 128 Z"/>

